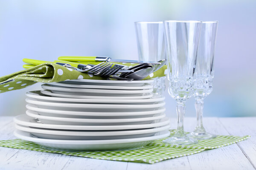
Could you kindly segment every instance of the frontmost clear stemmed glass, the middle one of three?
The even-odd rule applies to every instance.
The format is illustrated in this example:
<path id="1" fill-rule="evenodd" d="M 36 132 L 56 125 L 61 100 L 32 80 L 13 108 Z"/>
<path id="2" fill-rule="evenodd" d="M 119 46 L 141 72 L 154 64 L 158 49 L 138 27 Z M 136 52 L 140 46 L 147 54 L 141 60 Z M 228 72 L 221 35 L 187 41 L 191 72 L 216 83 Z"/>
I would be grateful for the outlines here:
<path id="1" fill-rule="evenodd" d="M 201 21 L 164 21 L 168 59 L 169 94 L 177 102 L 177 131 L 168 144 L 195 144 L 183 130 L 185 102 L 192 94 L 193 73 L 201 30 Z"/>

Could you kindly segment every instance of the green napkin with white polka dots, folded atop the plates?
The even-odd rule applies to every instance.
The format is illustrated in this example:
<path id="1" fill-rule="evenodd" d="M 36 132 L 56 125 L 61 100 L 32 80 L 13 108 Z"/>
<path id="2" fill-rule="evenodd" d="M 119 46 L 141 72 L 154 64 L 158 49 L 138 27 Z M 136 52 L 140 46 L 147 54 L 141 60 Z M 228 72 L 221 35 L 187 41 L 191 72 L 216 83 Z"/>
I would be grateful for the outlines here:
<path id="1" fill-rule="evenodd" d="M 167 74 L 166 65 L 159 70 L 150 74 L 145 79 L 155 77 L 163 77 Z M 70 68 L 53 64 L 44 63 L 33 68 L 28 68 L 18 71 L 7 76 L 0 77 L 0 93 L 6 91 L 26 88 L 36 82 L 61 82 L 70 79 L 106 79 L 100 76 L 93 76 L 92 74 L 81 73 Z"/>

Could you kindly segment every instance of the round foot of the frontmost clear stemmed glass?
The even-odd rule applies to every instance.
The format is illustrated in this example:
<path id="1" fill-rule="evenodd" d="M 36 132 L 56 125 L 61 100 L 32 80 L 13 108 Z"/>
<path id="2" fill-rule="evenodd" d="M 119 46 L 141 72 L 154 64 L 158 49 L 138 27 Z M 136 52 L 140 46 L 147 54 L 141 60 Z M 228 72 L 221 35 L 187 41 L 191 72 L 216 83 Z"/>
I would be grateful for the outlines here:
<path id="1" fill-rule="evenodd" d="M 183 144 L 196 144 L 198 142 L 195 139 L 190 139 L 187 136 L 179 136 L 179 137 L 172 136 L 168 139 L 163 140 L 163 143 L 183 145 Z"/>

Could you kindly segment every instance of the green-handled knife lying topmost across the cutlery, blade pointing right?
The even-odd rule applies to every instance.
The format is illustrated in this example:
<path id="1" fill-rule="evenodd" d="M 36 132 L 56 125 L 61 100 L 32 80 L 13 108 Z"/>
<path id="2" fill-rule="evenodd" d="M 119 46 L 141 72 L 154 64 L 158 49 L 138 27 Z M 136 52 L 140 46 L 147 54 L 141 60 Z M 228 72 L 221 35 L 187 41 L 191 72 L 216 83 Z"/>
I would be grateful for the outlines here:
<path id="1" fill-rule="evenodd" d="M 72 61 L 72 62 L 97 62 L 97 61 L 105 61 L 105 62 L 126 62 L 126 63 L 149 63 L 152 65 L 160 65 L 159 62 L 144 62 L 144 61 L 137 61 L 137 60 L 127 60 L 127 59 L 111 59 L 110 57 L 98 57 L 98 56 L 61 56 L 58 57 L 60 60 L 64 61 Z"/>

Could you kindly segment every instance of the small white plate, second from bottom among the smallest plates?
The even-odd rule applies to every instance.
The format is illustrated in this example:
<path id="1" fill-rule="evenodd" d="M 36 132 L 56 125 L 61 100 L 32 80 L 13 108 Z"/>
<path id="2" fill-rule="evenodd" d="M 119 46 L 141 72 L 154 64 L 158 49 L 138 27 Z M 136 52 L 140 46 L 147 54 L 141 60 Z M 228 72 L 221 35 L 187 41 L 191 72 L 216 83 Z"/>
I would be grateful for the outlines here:
<path id="1" fill-rule="evenodd" d="M 153 89 L 143 90 L 111 90 L 111 89 L 93 89 L 93 88 L 63 88 L 54 87 L 47 84 L 41 85 L 42 88 L 50 90 L 57 94 L 83 95 L 91 94 L 93 96 L 141 96 L 145 93 L 151 93 Z"/>

